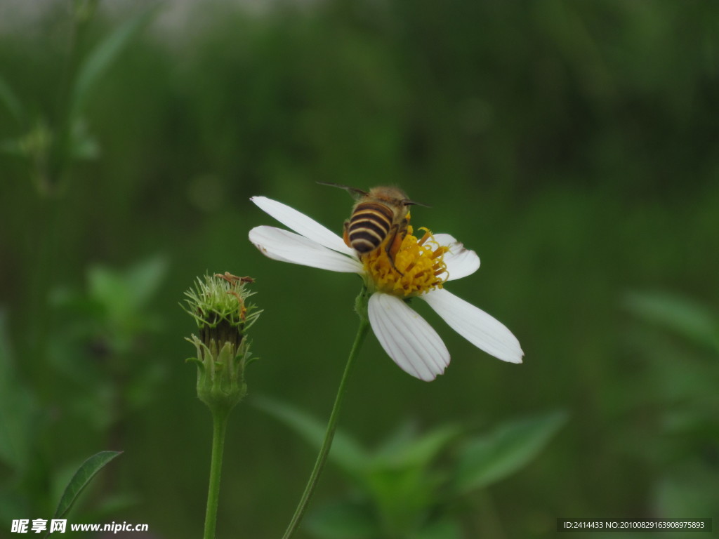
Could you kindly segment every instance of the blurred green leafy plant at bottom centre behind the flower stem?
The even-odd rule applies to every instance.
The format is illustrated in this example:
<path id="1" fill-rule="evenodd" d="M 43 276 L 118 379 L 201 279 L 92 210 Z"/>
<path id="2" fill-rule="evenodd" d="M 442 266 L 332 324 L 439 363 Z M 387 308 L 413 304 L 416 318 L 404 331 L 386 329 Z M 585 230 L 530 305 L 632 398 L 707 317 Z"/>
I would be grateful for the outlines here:
<path id="1" fill-rule="evenodd" d="M 321 446 L 321 421 L 267 397 L 255 405 Z M 321 539 L 460 538 L 459 522 L 447 511 L 450 502 L 522 469 L 565 420 L 565 413 L 554 412 L 475 437 L 457 425 L 423 434 L 406 425 L 372 452 L 338 430 L 329 459 L 347 474 L 352 494 L 313 512 L 308 528 Z M 450 453 L 457 445 L 459 450 Z M 451 459 L 441 461 L 442 455 Z"/>

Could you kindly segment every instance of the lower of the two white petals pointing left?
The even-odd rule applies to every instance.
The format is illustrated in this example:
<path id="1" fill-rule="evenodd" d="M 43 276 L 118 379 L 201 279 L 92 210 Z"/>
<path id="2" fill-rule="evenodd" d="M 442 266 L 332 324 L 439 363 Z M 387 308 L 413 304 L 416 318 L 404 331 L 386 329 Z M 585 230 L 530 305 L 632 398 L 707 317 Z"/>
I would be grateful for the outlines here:
<path id="1" fill-rule="evenodd" d="M 266 257 L 333 272 L 362 272 L 362 264 L 316 241 L 274 226 L 256 226 L 249 231 L 249 241 Z"/>

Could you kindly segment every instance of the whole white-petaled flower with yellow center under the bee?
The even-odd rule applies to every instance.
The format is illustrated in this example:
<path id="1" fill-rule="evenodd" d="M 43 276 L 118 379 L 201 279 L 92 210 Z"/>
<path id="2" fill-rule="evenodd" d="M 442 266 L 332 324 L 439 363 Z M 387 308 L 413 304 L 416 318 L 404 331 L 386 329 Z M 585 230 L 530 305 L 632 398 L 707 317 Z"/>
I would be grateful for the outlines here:
<path id="1" fill-rule="evenodd" d="M 395 254 L 395 269 L 390 267 L 385 249 L 359 259 L 340 236 L 303 213 L 262 196 L 251 200 L 294 231 L 274 226 L 249 231 L 249 241 L 262 254 L 282 262 L 362 276 L 372 292 L 367 305 L 372 331 L 395 363 L 413 377 L 430 381 L 442 374 L 449 364 L 449 351 L 429 323 L 406 303 L 411 297 L 429 303 L 454 331 L 487 354 L 510 363 L 522 362 L 519 341 L 503 323 L 444 290 L 444 282 L 471 275 L 480 267 L 477 253 L 464 249 L 449 234 L 432 236 L 428 231 L 417 239 L 410 227 Z"/>

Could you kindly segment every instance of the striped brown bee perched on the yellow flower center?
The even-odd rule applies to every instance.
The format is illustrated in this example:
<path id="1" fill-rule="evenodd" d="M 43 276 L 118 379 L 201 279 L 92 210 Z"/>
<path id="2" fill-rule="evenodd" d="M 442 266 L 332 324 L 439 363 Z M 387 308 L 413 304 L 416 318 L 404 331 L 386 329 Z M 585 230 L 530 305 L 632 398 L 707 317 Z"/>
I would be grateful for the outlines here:
<path id="1" fill-rule="evenodd" d="M 411 201 L 396 187 L 375 187 L 368 193 L 347 185 L 318 183 L 347 190 L 357 201 L 352 215 L 344 221 L 344 243 L 357 251 L 360 258 L 384 245 L 392 267 L 399 272 L 394 255 L 407 234 L 409 206 L 425 205 Z"/>

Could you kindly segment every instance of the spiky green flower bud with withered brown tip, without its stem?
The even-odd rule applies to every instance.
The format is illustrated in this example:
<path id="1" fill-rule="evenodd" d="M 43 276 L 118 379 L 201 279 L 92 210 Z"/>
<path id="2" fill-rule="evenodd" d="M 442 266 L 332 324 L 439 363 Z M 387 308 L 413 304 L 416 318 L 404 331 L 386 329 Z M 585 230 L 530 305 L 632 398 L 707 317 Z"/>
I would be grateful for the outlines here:
<path id="1" fill-rule="evenodd" d="M 247 395 L 244 369 L 254 359 L 247 330 L 262 312 L 247 298 L 251 277 L 205 275 L 191 288 L 183 308 L 196 321 L 199 336 L 187 338 L 196 346 L 197 396 L 213 411 L 229 412 Z"/>

